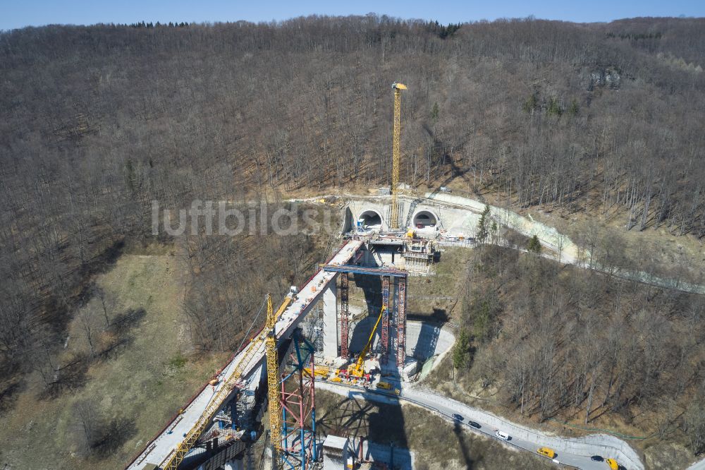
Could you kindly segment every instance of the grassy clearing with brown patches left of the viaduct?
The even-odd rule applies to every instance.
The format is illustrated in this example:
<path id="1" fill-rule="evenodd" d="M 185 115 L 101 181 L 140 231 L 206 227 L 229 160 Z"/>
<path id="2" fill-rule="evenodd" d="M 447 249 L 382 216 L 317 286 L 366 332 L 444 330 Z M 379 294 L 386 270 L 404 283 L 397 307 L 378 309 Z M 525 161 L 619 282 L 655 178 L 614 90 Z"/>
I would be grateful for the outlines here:
<path id="1" fill-rule="evenodd" d="M 18 394 L 4 414 L 0 463 L 17 469 L 120 469 L 176 414 L 217 370 L 226 354 L 196 354 L 190 347 L 180 300 L 179 260 L 171 255 L 123 255 L 97 279 L 110 299 L 111 321 L 125 311 L 144 309 L 128 341 L 90 364 L 85 385 L 56 398 L 39 397 L 39 378 Z M 102 306 L 92 299 L 93 321 Z M 96 310 L 99 315 L 95 318 Z M 81 313 L 70 327 L 66 354 L 87 351 Z M 95 341 L 95 340 L 94 340 Z M 85 455 L 75 406 L 92 402 L 97 421 L 106 423 L 114 445 Z"/>

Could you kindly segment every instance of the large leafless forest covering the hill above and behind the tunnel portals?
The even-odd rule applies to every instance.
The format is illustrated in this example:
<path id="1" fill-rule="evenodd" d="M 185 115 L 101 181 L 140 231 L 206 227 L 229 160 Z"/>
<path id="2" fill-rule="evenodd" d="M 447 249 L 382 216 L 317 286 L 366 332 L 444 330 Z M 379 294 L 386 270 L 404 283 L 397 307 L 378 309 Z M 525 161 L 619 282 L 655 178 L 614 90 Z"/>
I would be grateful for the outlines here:
<path id="1" fill-rule="evenodd" d="M 174 209 L 388 184 L 395 80 L 409 87 L 402 181 L 425 189 L 455 178 L 513 207 L 701 238 L 703 67 L 701 19 L 458 28 L 364 16 L 4 32 L 3 366 L 59 347 L 92 275 L 124 243 L 161 241 L 150 234 L 152 200 Z M 314 261 L 302 240 L 264 238 L 245 251 L 250 263 L 236 251 L 252 243 L 178 241 L 192 266 L 188 313 L 220 312 L 196 318 L 207 325 L 196 342 L 231 347 L 219 338 L 223 318 L 249 320 L 252 293 L 300 279 Z M 291 255 L 295 267 L 281 262 Z M 227 327 L 242 334 L 240 322 Z"/>

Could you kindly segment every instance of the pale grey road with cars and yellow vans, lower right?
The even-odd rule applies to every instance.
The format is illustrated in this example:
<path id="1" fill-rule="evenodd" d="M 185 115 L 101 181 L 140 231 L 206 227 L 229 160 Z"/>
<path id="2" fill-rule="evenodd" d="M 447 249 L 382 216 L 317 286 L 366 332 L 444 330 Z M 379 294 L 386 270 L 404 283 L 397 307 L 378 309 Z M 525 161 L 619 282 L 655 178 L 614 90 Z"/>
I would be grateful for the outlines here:
<path id="1" fill-rule="evenodd" d="M 512 423 L 508 423 L 507 421 L 505 421 L 501 426 L 497 426 L 498 418 L 494 415 L 471 408 L 470 406 L 467 406 L 460 402 L 455 402 L 454 400 L 450 400 L 445 397 L 442 397 L 441 395 L 432 394 L 424 390 L 417 390 L 415 388 L 405 388 L 400 392 L 400 395 L 397 398 L 395 396 L 390 396 L 389 394 L 383 394 L 374 391 L 364 391 L 357 387 L 333 384 L 331 382 L 318 382 L 316 387 L 319 389 L 329 390 L 331 392 L 348 395 L 351 397 L 357 397 L 391 404 L 398 403 L 398 400 L 402 399 L 411 404 L 415 404 L 416 406 L 421 406 L 422 408 L 429 409 L 430 411 L 435 411 L 436 413 L 443 416 L 443 418 L 451 422 L 455 421 L 455 419 L 453 418 L 453 414 L 457 413 L 463 416 L 464 418 L 462 421 L 460 421 L 461 426 L 463 426 L 463 428 L 469 430 L 470 432 L 486 435 L 489 438 L 496 439 L 500 442 L 503 442 L 505 445 L 518 447 L 522 450 L 526 450 L 527 452 L 532 453 L 536 453 L 539 447 L 546 446 L 553 448 L 554 450 L 556 450 L 556 458 L 553 460 L 553 462 L 557 465 L 560 464 L 561 466 L 572 466 L 577 469 L 584 470 L 606 470 L 609 468 L 608 465 L 604 462 L 592 461 L 590 459 L 590 456 L 593 454 L 602 455 L 605 458 L 616 458 L 620 464 L 626 463 L 624 462 L 625 458 L 623 456 L 618 455 L 618 452 L 616 450 L 611 450 L 611 452 L 605 452 L 609 449 L 606 449 L 605 446 L 599 444 L 589 445 L 586 442 L 575 442 L 575 440 L 565 439 L 561 440 L 563 442 L 562 447 L 570 448 L 572 446 L 575 447 L 576 450 L 558 450 L 555 448 L 557 446 L 553 445 L 550 442 L 555 442 L 556 440 L 558 440 L 558 438 L 556 437 L 551 436 L 550 438 L 546 438 L 546 440 L 543 440 L 541 439 L 540 435 L 538 435 L 538 433 L 533 432 L 532 434 L 535 435 L 536 438 L 526 438 L 525 436 L 527 435 L 527 431 L 525 430 L 525 428 L 514 425 Z M 481 428 L 473 428 L 467 423 L 468 421 L 475 421 L 479 423 Z M 492 421 L 494 421 L 494 423 Z M 508 442 L 502 441 L 496 437 L 495 431 L 498 429 L 503 430 L 505 431 L 505 433 L 508 433 L 510 435 L 510 440 Z M 537 456 L 539 456 L 539 454 L 537 454 Z M 546 458 L 543 456 L 539 457 Z M 642 469 L 643 466 L 641 465 L 641 462 L 638 462 L 638 464 L 635 464 L 633 466 L 627 464 L 626 468 L 629 470 Z"/>

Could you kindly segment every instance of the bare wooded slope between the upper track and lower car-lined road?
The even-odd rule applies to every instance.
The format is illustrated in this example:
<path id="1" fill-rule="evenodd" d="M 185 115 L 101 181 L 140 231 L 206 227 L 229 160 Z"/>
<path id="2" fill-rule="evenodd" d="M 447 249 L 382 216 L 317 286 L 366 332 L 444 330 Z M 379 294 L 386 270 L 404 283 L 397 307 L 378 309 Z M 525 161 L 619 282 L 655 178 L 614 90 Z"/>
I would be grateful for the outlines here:
<path id="1" fill-rule="evenodd" d="M 468 266 L 453 364 L 481 406 L 636 436 L 647 469 L 705 452 L 703 296 L 492 245 Z"/>

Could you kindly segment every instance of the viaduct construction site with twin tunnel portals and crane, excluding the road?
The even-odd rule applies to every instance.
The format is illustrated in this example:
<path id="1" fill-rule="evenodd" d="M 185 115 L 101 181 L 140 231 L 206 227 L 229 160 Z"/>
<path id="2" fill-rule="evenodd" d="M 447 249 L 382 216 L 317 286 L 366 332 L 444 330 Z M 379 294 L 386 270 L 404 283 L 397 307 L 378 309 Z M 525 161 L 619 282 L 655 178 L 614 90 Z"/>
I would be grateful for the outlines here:
<path id="1" fill-rule="evenodd" d="M 453 344 L 439 325 L 407 323 L 407 278 L 432 274 L 446 230 L 437 209 L 400 198 L 400 92 L 406 87 L 392 88 L 392 185 L 381 190 L 388 197 L 350 201 L 341 248 L 302 287 L 291 287 L 278 308 L 267 297 L 257 315 L 266 310 L 264 327 L 248 332 L 250 342 L 128 469 L 252 469 L 259 439 L 268 442 L 260 468 L 265 461 L 273 469 L 395 467 L 393 452 L 391 462 L 374 462 L 374 443 L 319 435 L 315 411 L 317 382 L 394 399 L 437 349 Z M 265 412 L 269 426 L 262 424 Z"/>

